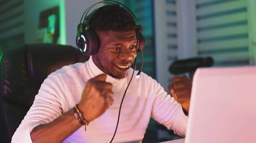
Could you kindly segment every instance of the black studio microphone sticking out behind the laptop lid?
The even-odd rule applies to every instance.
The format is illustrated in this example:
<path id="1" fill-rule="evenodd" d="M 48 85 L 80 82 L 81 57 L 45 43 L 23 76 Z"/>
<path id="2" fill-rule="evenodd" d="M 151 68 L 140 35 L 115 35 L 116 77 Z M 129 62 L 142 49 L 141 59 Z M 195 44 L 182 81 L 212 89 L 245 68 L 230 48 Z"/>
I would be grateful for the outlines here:
<path id="1" fill-rule="evenodd" d="M 177 60 L 169 66 L 172 74 L 183 74 L 194 72 L 198 67 L 211 67 L 214 64 L 212 57 L 200 57 Z"/>

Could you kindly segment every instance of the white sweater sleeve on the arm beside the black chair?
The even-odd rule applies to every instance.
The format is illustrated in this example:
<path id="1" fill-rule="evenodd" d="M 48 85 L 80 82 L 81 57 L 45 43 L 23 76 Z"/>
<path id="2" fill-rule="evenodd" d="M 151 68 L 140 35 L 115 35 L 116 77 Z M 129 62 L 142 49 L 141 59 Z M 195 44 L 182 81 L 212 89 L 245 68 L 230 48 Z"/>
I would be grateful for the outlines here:
<path id="1" fill-rule="evenodd" d="M 61 105 L 65 104 L 64 91 L 64 85 L 58 74 L 51 73 L 41 84 L 32 107 L 12 136 L 11 143 L 32 143 L 30 136 L 32 129 L 58 118 L 62 113 Z"/>

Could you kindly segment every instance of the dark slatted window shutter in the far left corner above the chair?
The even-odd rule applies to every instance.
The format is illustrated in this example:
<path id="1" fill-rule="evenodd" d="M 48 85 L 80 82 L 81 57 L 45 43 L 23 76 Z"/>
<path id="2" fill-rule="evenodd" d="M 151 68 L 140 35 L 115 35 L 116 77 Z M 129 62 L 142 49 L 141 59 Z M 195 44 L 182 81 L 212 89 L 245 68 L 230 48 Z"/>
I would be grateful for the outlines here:
<path id="1" fill-rule="evenodd" d="M 23 0 L 0 0 L 0 52 L 24 44 Z"/>

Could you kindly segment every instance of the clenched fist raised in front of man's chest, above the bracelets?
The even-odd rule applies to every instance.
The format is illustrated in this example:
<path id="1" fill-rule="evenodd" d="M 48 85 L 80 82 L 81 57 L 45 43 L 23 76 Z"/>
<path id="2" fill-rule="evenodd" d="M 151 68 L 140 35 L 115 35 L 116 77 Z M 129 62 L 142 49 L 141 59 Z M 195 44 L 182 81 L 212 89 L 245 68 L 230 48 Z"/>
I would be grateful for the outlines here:
<path id="1" fill-rule="evenodd" d="M 106 74 L 100 74 L 88 80 L 84 87 L 78 107 L 89 122 L 102 115 L 114 102 L 113 85 L 106 79 Z"/>

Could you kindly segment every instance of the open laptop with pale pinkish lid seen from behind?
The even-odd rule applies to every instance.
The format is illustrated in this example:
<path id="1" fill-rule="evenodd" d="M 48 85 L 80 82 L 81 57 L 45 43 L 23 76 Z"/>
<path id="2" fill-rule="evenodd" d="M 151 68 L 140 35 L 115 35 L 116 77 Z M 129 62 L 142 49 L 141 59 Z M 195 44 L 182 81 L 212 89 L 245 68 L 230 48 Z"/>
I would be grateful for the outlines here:
<path id="1" fill-rule="evenodd" d="M 164 143 L 256 143 L 256 66 L 198 68 L 186 137 Z"/>

